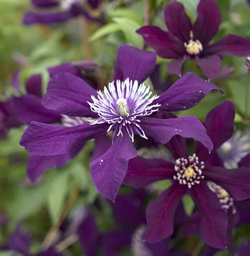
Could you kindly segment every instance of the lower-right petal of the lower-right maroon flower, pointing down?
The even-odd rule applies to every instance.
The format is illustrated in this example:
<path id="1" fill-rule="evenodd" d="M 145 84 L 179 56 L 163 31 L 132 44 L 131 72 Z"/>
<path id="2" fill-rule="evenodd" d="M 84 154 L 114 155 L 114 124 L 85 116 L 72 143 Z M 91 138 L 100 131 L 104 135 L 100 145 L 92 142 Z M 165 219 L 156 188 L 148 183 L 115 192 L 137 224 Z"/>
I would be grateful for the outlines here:
<path id="1" fill-rule="evenodd" d="M 200 212 L 202 240 L 214 248 L 226 248 L 228 218 L 217 195 L 206 183 L 195 185 L 191 195 Z"/>

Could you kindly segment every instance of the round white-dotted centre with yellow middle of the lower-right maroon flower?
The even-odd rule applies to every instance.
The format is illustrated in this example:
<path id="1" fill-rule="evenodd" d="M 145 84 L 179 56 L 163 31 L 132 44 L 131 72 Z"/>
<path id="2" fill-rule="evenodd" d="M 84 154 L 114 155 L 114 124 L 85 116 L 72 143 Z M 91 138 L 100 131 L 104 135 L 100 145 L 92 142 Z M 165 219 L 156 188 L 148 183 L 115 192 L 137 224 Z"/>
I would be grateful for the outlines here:
<path id="1" fill-rule="evenodd" d="M 188 158 L 179 158 L 176 160 L 175 171 L 177 174 L 174 179 L 178 180 L 180 184 L 191 188 L 195 184 L 199 184 L 201 179 L 204 179 L 202 175 L 203 168 L 204 162 L 199 162 L 196 154 Z"/>

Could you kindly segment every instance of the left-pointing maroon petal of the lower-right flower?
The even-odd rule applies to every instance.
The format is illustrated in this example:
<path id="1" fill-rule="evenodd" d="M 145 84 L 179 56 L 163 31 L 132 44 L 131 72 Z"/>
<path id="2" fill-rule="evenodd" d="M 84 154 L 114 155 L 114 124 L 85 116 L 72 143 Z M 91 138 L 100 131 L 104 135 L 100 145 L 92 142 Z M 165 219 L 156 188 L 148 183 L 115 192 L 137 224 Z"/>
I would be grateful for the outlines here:
<path id="1" fill-rule="evenodd" d="M 136 157 L 129 161 L 127 175 L 123 183 L 134 187 L 144 187 L 154 181 L 173 179 L 175 164 L 163 159 Z"/>

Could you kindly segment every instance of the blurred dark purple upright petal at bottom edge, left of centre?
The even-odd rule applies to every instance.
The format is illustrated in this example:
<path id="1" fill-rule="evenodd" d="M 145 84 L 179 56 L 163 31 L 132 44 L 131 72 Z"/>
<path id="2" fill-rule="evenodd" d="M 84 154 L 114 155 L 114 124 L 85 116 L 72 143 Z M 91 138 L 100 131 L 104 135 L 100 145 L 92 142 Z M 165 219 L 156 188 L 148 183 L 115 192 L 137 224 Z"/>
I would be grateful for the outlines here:
<path id="1" fill-rule="evenodd" d="M 86 256 L 95 256 L 97 251 L 97 243 L 99 232 L 95 223 L 95 217 L 89 214 L 79 225 L 77 234 L 79 243 L 84 249 Z"/>

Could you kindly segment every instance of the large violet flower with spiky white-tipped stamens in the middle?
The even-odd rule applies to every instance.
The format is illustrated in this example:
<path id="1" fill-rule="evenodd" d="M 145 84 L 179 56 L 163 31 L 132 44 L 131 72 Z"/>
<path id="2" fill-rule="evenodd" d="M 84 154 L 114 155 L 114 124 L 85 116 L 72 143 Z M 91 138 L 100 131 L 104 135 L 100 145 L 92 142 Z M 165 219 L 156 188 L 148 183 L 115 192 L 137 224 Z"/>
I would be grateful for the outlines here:
<path id="1" fill-rule="evenodd" d="M 159 119 L 158 110 L 178 111 L 195 106 L 206 93 L 218 87 L 187 73 L 160 96 L 151 97 L 142 82 L 155 68 L 156 53 L 121 45 L 115 66 L 115 81 L 96 91 L 79 77 L 60 73 L 48 84 L 43 103 L 68 116 L 93 118 L 88 124 L 63 127 L 31 122 L 20 141 L 32 154 L 67 154 L 79 144 L 113 131 L 112 146 L 90 164 L 98 191 L 114 200 L 127 172 L 128 161 L 137 153 L 134 136 L 167 143 L 176 134 L 195 138 L 212 150 L 206 129 L 194 116 Z M 188 91 L 188 93 L 187 93 Z"/>

